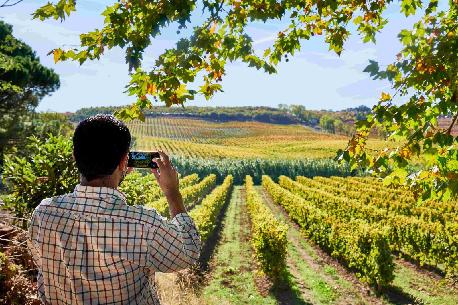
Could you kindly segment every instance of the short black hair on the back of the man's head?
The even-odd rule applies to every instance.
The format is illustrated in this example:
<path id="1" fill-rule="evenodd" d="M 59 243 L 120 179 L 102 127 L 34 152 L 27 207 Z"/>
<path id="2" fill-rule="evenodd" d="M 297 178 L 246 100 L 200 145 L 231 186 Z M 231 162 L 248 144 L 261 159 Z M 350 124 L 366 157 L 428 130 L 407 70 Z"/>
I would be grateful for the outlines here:
<path id="1" fill-rule="evenodd" d="M 120 119 L 111 114 L 90 116 L 73 135 L 76 167 L 87 181 L 113 174 L 130 145 L 131 133 Z"/>

